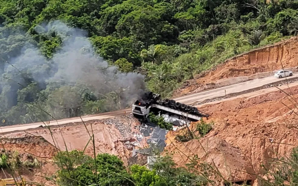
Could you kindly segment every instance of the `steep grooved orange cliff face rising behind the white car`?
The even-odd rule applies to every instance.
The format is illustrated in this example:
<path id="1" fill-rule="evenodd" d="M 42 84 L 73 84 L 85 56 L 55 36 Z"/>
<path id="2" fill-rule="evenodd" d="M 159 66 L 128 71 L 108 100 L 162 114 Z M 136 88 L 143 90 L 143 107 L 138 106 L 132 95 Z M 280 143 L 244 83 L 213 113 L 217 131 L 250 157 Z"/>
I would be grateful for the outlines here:
<path id="1" fill-rule="evenodd" d="M 217 66 L 210 80 L 248 76 L 298 66 L 298 37 L 228 59 Z M 212 75 L 213 74 L 213 75 Z M 209 79 L 209 78 L 208 78 Z"/>

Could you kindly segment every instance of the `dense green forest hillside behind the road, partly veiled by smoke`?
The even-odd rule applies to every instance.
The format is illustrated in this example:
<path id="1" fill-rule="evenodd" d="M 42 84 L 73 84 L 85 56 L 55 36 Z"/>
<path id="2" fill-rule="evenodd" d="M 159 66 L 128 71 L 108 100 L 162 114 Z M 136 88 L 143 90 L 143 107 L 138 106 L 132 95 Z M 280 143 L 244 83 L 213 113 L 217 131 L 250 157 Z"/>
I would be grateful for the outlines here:
<path id="1" fill-rule="evenodd" d="M 225 59 L 296 35 L 298 0 L 2 0 L 2 125 L 163 96 Z M 4 121 L 4 120 L 5 121 Z"/>

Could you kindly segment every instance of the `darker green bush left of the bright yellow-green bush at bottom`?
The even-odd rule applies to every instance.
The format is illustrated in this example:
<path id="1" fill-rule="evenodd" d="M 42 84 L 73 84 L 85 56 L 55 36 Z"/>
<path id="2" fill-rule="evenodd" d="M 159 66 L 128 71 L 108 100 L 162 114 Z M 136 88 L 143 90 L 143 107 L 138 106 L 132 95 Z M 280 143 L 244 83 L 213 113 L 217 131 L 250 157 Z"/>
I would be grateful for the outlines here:
<path id="1" fill-rule="evenodd" d="M 55 156 L 60 185 L 134 185 L 123 162 L 114 155 L 98 154 L 96 159 L 82 152 L 62 152 Z M 66 165 L 66 166 L 65 166 Z"/>

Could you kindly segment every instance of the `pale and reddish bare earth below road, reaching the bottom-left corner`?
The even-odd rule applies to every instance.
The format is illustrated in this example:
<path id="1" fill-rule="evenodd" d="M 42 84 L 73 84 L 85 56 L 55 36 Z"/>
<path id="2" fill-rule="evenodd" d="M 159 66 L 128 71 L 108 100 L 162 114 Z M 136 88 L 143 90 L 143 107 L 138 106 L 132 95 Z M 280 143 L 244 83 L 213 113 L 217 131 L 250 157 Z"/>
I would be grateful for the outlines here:
<path id="1" fill-rule="evenodd" d="M 133 142 L 136 141 L 136 139 L 133 135 L 130 135 L 129 139 L 124 138 L 119 130 L 115 128 L 114 124 L 105 124 L 107 122 L 113 123 L 115 120 L 121 122 L 123 125 L 130 123 L 132 134 L 137 133 L 135 126 L 139 125 L 139 123 L 137 123 L 137 120 L 132 120 L 128 117 L 116 117 L 109 121 L 92 121 L 96 153 L 117 155 L 122 159 L 124 164 L 127 165 L 129 158 L 131 157 L 132 146 L 126 146 L 124 145 L 124 142 L 127 140 Z M 91 123 L 87 123 L 86 127 L 92 135 Z M 55 185 L 54 182 L 46 181 L 44 178 L 50 177 L 58 170 L 52 162 L 53 156 L 58 150 L 66 150 L 65 145 L 68 151 L 74 149 L 83 150 L 90 139 L 86 127 L 81 123 L 51 129 L 55 143 L 53 142 L 51 133 L 48 129 L 40 128 L 37 130 L 30 130 L 30 134 L 25 132 L 7 134 L 3 136 L 2 142 L 4 142 L 4 147 L 2 147 L 2 149 L 5 148 L 6 150 L 18 151 L 19 153 L 29 153 L 34 157 L 41 159 L 43 165 L 40 169 L 35 169 L 33 172 L 22 172 L 22 175 L 29 181 L 44 183 L 46 185 Z M 44 141 L 40 139 L 41 137 Z M 141 143 L 141 146 L 142 144 L 144 144 L 144 142 Z M 93 152 L 93 144 L 91 141 L 88 144 L 85 153 L 93 156 Z M 0 173 L 0 178 L 5 178 L 5 175 Z"/>

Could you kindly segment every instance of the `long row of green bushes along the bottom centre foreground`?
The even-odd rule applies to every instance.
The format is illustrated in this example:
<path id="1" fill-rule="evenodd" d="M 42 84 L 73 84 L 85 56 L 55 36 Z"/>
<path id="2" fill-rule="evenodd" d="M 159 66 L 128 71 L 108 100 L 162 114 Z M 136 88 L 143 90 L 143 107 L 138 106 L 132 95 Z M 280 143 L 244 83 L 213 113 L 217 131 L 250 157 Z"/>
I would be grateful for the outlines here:
<path id="1" fill-rule="evenodd" d="M 150 167 L 131 165 L 125 167 L 114 155 L 98 154 L 95 158 L 82 155 L 81 152 L 61 152 L 55 157 L 60 170 L 57 181 L 61 186 L 75 185 L 205 185 L 208 180 L 189 172 L 185 168 L 176 168 L 170 156 L 157 158 Z M 79 156 L 72 156 L 78 154 Z M 81 155 L 81 156 L 80 156 Z M 71 157 L 71 158 L 69 158 Z M 97 171 L 94 171 L 97 170 Z"/>

